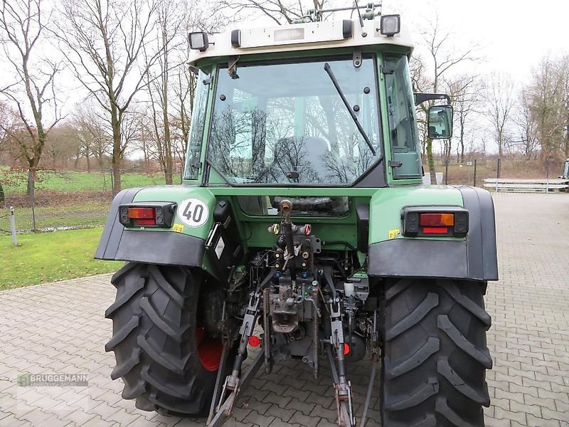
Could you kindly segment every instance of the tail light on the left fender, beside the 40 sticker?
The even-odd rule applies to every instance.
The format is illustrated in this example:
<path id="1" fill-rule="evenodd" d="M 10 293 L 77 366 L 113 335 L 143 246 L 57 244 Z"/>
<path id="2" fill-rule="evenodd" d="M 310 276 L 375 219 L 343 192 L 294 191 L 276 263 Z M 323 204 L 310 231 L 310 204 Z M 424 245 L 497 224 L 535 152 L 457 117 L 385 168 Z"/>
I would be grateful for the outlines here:
<path id="1" fill-rule="evenodd" d="M 119 222 L 125 227 L 170 228 L 176 211 L 171 202 L 141 202 L 119 206 Z"/>

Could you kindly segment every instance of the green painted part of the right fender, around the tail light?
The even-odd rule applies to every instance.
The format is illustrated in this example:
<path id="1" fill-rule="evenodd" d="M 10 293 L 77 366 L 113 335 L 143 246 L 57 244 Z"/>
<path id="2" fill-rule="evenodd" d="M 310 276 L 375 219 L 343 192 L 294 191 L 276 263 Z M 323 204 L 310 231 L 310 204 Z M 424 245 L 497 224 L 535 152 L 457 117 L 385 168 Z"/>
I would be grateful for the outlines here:
<path id="1" fill-rule="evenodd" d="M 401 228 L 403 206 L 434 205 L 462 207 L 462 195 L 452 186 L 399 186 L 379 189 L 370 202 L 369 244 L 390 238 L 404 238 L 399 231 L 395 232 Z"/>

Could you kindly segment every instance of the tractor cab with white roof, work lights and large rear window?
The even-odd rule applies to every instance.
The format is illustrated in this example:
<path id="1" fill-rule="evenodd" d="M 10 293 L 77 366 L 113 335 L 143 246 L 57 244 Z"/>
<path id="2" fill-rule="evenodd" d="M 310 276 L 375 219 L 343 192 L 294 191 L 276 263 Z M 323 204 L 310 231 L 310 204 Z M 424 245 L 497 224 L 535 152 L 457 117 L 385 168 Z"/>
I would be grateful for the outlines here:
<path id="1" fill-rule="evenodd" d="M 363 26 L 344 20 L 238 28 L 215 38 L 191 33 L 189 40 L 198 78 L 188 181 L 420 182 L 412 46 L 399 16 Z"/>

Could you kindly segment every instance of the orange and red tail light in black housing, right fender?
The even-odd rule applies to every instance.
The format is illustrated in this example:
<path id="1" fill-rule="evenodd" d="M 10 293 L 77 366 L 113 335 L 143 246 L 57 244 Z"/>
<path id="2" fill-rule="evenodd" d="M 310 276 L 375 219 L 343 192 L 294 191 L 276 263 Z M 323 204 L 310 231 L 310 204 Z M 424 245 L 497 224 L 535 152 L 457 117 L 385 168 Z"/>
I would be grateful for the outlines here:
<path id="1" fill-rule="evenodd" d="M 405 206 L 401 218 L 407 237 L 464 237 L 468 233 L 468 211 L 460 206 Z"/>

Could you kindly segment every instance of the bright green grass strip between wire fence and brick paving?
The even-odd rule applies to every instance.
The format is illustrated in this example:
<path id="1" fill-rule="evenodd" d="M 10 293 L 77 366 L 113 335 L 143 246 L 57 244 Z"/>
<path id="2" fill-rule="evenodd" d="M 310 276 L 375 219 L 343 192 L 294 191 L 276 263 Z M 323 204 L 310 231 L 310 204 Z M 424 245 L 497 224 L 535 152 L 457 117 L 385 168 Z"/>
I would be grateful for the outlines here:
<path id="1" fill-rule="evenodd" d="M 0 236 L 0 290 L 111 273 L 119 261 L 94 260 L 102 228 Z"/>

